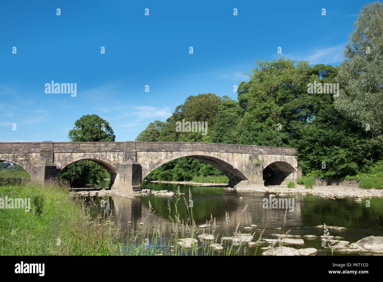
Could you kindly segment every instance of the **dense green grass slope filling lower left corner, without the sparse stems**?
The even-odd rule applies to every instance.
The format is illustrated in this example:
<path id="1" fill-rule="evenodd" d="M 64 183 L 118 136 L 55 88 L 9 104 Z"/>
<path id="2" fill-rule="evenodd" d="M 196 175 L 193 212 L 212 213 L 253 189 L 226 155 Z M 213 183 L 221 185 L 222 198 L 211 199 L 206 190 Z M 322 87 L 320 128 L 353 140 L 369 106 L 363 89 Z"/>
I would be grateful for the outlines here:
<path id="1" fill-rule="evenodd" d="M 1 186 L 1 198 L 30 198 L 30 211 L 0 209 L 0 255 L 118 254 L 116 238 L 92 226 L 80 200 L 57 183 Z"/>

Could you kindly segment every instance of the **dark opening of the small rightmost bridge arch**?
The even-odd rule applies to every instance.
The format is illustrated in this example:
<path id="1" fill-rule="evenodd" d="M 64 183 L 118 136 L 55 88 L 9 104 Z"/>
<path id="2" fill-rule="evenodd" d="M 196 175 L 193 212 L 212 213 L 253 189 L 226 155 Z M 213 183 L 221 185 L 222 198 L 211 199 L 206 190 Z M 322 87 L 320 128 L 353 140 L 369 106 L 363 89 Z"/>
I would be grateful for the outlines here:
<path id="1" fill-rule="evenodd" d="M 273 162 L 263 169 L 263 180 L 267 185 L 281 185 L 296 178 L 296 170 L 290 163 Z"/>

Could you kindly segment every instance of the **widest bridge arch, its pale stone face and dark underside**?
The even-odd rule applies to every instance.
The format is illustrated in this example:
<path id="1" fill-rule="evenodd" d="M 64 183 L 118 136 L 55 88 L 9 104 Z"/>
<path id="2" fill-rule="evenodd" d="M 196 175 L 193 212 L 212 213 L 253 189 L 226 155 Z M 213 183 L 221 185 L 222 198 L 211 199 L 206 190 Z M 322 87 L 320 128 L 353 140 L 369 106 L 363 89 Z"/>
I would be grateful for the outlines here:
<path id="1" fill-rule="evenodd" d="M 237 168 L 236 162 L 230 160 L 229 158 L 225 158 L 223 160 L 222 158 L 219 158 L 219 155 L 211 156 L 208 152 L 179 152 L 173 153 L 170 156 L 168 154 L 165 157 L 159 156 L 157 159 L 152 161 L 145 158 L 144 160 L 146 161 L 141 162 L 142 179 L 161 165 L 183 157 L 200 160 L 201 162 L 208 163 L 214 168 L 217 168 L 229 178 L 229 186 L 235 185 L 242 180 L 247 180 L 246 176 L 244 176 L 244 174 Z"/>

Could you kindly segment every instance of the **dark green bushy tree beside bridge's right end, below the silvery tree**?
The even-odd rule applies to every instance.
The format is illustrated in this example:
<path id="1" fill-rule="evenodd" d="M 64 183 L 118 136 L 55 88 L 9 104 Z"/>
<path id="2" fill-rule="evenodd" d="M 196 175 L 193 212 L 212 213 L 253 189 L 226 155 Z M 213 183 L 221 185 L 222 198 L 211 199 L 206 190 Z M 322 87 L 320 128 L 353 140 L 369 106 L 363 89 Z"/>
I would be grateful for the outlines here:
<path id="1" fill-rule="evenodd" d="M 372 140 L 353 120 L 334 106 L 322 110 L 310 124 L 296 130 L 302 172 L 326 178 L 368 172 L 380 158 L 381 140 Z M 322 162 L 326 168 L 322 168 Z"/>

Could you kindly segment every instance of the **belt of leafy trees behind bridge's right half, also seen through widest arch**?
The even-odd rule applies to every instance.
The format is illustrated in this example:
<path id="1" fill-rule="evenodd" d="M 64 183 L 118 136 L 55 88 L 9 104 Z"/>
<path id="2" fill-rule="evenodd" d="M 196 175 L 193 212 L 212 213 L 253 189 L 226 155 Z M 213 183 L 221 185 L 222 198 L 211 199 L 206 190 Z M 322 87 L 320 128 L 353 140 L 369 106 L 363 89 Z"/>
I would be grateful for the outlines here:
<path id="1" fill-rule="evenodd" d="M 153 125 L 148 126 L 146 131 L 155 134 L 144 130 L 139 138 L 295 147 L 298 165 L 308 175 L 349 178 L 369 173 L 383 158 L 382 34 L 383 3 L 368 4 L 355 22 L 339 68 L 310 66 L 285 57 L 259 59 L 248 74 L 249 81 L 239 84 L 238 101 L 211 93 L 190 96 L 163 127 L 153 131 Z M 339 83 L 339 97 L 309 93 L 308 83 L 315 81 Z M 208 135 L 175 132 L 175 123 L 182 119 L 207 120 Z M 190 180 L 216 172 L 196 160 L 179 159 L 157 168 L 148 178 Z"/>

